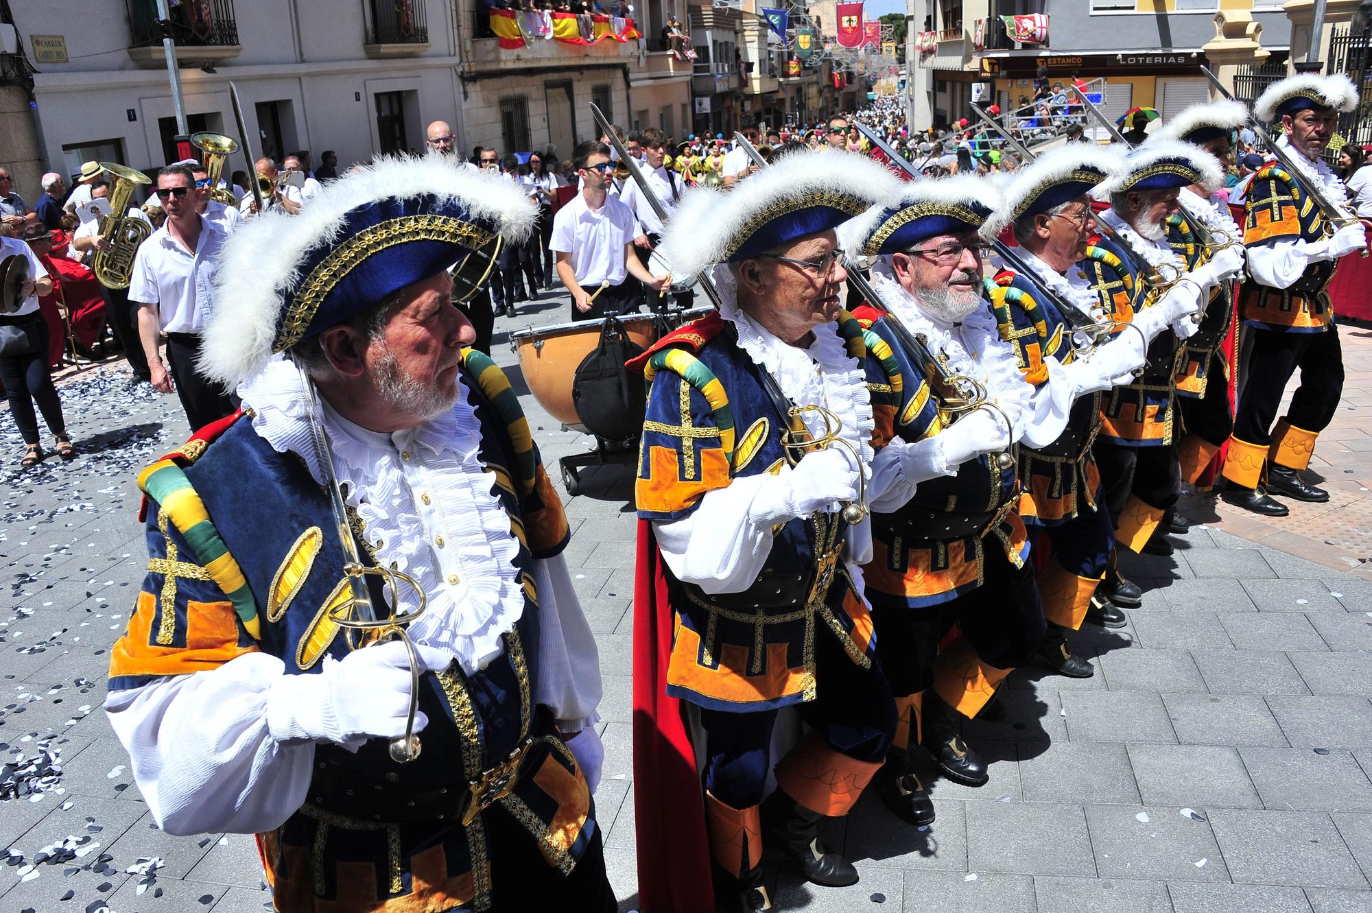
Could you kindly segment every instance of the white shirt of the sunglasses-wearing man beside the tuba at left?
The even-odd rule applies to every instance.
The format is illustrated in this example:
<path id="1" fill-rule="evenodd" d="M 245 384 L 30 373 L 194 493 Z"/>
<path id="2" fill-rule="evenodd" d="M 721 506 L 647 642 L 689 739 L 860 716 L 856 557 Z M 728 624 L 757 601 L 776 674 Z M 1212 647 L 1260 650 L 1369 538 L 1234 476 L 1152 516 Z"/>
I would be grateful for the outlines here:
<path id="1" fill-rule="evenodd" d="M 156 304 L 163 333 L 199 333 L 214 300 L 214 262 L 224 239 L 214 222 L 202 218 L 200 237 L 189 251 L 163 225 L 133 255 L 129 300 Z"/>

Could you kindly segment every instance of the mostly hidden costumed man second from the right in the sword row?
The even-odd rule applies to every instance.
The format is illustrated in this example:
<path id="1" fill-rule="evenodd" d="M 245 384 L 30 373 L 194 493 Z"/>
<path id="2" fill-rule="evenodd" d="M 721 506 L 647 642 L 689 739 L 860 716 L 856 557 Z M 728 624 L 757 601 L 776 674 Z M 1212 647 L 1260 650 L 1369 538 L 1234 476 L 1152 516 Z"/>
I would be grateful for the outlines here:
<path id="1" fill-rule="evenodd" d="M 1247 108 L 1242 101 L 1225 99 L 1210 104 L 1194 104 L 1158 130 L 1154 143 L 1191 143 L 1200 147 L 1221 165 L 1233 160 L 1232 136 L 1249 122 Z M 1211 243 L 1229 243 L 1233 254 L 1243 252 L 1243 234 L 1229 211 L 1229 203 L 1216 193 L 1218 188 L 1191 184 L 1181 188 L 1177 203 L 1181 204 L 1179 218 L 1185 223 L 1199 223 L 1211 237 Z M 1179 226 L 1183 228 L 1183 226 Z M 1199 243 L 1195 232 L 1187 229 L 1187 237 L 1177 237 L 1173 248 L 1194 269 L 1209 262 L 1217 251 Z M 1231 256 L 1233 256 L 1231 254 Z M 1233 322 L 1233 282 L 1220 282 L 1211 287 L 1200 326 L 1183 344 L 1180 370 L 1177 372 L 1177 409 L 1181 414 L 1183 435 L 1177 440 L 1177 459 L 1181 467 L 1181 483 L 1195 487 L 1220 452 L 1220 447 L 1233 430 L 1233 413 L 1229 409 L 1229 365 L 1221 345 L 1229 336 Z M 1172 520 L 1174 531 L 1184 531 L 1185 518 L 1176 514 Z"/>

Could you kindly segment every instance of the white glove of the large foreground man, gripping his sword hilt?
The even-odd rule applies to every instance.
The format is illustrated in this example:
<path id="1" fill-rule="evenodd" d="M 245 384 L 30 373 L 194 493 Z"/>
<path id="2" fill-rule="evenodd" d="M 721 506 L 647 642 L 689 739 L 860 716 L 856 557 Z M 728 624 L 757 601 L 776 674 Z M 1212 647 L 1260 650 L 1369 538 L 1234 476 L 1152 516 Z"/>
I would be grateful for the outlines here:
<path id="1" fill-rule="evenodd" d="M 414 646 L 424 672 L 446 669 L 449 650 Z M 410 711 L 410 658 L 399 640 L 325 657 L 317 673 L 281 676 L 266 698 L 266 724 L 277 742 L 333 742 L 357 750 L 368 739 L 405 735 Z M 428 725 L 414 714 L 414 731 Z"/>

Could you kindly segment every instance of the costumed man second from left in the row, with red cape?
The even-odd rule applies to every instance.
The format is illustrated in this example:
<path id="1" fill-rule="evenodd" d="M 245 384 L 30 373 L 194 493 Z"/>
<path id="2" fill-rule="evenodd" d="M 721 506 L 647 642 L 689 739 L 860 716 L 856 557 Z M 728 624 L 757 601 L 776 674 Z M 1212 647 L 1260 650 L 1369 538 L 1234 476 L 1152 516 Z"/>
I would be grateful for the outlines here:
<path id="1" fill-rule="evenodd" d="M 663 254 L 682 276 L 713 267 L 722 302 L 630 363 L 650 378 L 634 620 L 645 909 L 709 909 L 711 862 L 723 906 L 771 909 L 764 850 L 816 884 L 858 880 L 819 825 L 862 795 L 896 713 L 862 596 L 868 524 L 840 506 L 879 506 L 897 466 L 874 461 L 890 406 L 877 419 L 868 384 L 888 376 L 841 310 L 834 228 L 895 189 L 870 159 L 794 155 L 729 193 L 691 191 L 667 226 Z M 838 443 L 783 446 L 826 426 Z M 678 702 L 698 714 L 702 779 Z M 814 732 L 774 757 L 792 706 Z"/>

